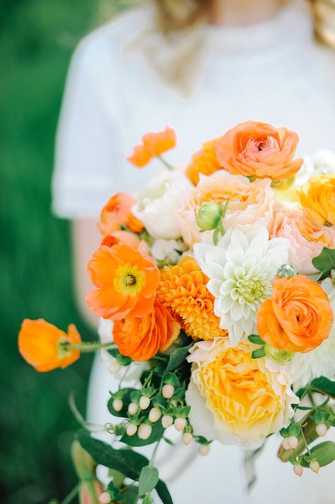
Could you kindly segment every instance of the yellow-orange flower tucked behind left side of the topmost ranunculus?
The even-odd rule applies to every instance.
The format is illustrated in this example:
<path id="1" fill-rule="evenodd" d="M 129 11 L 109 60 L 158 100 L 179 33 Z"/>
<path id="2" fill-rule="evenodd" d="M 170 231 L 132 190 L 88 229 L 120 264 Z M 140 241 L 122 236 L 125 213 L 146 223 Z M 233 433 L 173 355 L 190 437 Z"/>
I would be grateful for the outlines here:
<path id="1" fill-rule="evenodd" d="M 221 168 L 221 164 L 218 162 L 215 153 L 215 146 L 218 140 L 217 138 L 216 140 L 205 142 L 202 149 L 193 154 L 192 161 L 187 167 L 186 174 L 194 185 L 198 184 L 200 173 L 210 175 Z"/>

